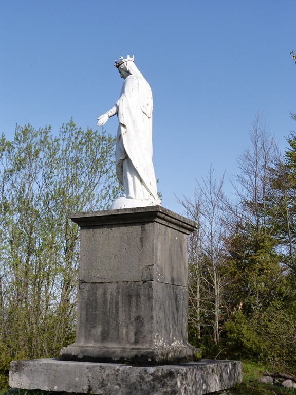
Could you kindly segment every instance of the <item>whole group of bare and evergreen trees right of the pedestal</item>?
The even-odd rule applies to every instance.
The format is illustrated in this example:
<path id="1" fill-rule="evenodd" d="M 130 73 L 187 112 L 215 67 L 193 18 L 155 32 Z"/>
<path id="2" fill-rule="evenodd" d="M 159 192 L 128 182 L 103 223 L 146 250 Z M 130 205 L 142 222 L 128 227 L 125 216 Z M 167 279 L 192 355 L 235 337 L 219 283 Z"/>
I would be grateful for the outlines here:
<path id="1" fill-rule="evenodd" d="M 279 154 L 257 114 L 250 139 L 238 157 L 236 199 L 209 177 L 195 201 L 181 202 L 199 225 L 189 242 L 189 339 L 206 357 L 294 371 L 296 134 Z"/>

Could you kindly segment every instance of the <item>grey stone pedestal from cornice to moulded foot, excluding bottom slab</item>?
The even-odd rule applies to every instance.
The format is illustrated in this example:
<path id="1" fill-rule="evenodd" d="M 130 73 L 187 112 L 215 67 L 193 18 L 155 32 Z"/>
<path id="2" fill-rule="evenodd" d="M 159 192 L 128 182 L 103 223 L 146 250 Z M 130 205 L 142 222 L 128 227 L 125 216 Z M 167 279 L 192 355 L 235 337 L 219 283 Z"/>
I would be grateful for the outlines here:
<path id="1" fill-rule="evenodd" d="M 76 213 L 80 265 L 70 361 L 195 361 L 188 343 L 187 238 L 196 224 L 161 206 Z"/>

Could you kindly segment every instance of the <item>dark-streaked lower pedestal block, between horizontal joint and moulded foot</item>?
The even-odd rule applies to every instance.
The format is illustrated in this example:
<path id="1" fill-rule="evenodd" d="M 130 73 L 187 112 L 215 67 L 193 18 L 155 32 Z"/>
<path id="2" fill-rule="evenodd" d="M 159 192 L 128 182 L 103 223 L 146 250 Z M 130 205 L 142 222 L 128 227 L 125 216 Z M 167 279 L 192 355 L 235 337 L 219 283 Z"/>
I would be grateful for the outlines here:
<path id="1" fill-rule="evenodd" d="M 79 285 L 79 344 L 120 344 L 159 347 L 187 336 L 187 289 L 147 282 L 85 283 Z M 106 317 L 107 315 L 107 317 Z M 108 317 L 113 318 L 110 325 Z M 88 325 L 84 327 L 85 322 Z"/>

